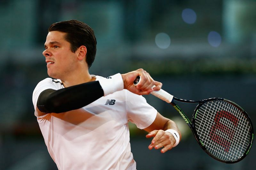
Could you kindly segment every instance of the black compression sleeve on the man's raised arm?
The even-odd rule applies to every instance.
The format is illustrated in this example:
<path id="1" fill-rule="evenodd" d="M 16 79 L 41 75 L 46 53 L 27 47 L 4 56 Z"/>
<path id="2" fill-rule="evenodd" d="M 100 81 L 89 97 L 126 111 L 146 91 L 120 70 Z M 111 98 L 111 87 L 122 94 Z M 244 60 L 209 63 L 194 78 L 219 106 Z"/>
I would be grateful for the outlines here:
<path id="1" fill-rule="evenodd" d="M 102 96 L 104 92 L 99 81 L 93 81 L 60 90 L 44 90 L 36 105 L 44 113 L 62 113 L 84 107 Z"/>

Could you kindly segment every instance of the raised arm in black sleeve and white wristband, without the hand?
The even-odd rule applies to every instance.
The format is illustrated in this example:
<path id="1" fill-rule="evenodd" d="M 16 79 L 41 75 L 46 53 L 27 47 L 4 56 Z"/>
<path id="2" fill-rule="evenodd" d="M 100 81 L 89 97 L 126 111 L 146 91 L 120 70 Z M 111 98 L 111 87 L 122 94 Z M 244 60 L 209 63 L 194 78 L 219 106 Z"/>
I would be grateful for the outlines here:
<path id="1" fill-rule="evenodd" d="M 44 87 L 41 85 L 41 88 Z M 37 115 L 47 113 L 63 113 L 82 108 L 102 96 L 124 89 L 121 74 L 111 78 L 100 78 L 98 81 L 87 82 L 79 85 L 62 88 L 59 90 L 45 89 L 37 99 Z M 35 91 L 38 88 L 35 89 Z M 40 87 L 39 87 L 40 90 Z"/>

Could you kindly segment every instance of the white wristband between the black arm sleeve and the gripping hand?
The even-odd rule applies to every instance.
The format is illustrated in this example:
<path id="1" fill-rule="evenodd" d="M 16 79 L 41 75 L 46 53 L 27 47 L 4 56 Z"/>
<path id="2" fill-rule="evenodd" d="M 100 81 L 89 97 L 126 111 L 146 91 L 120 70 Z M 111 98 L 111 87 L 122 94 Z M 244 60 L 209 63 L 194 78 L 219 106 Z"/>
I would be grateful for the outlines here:
<path id="1" fill-rule="evenodd" d="M 103 89 L 104 96 L 124 89 L 124 81 L 120 73 L 107 78 L 100 78 L 99 82 Z"/>

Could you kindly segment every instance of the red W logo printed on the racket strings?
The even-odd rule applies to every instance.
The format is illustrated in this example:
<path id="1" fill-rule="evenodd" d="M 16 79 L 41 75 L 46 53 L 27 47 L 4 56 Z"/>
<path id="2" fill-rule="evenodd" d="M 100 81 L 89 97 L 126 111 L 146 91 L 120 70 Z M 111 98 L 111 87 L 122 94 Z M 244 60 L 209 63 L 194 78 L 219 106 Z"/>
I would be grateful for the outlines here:
<path id="1" fill-rule="evenodd" d="M 221 110 L 215 115 L 210 137 L 215 143 L 224 147 L 226 152 L 229 150 L 230 141 L 233 139 L 237 122 L 237 117 L 228 111 Z M 232 129 L 229 128 L 231 123 L 234 124 Z M 225 134 L 225 136 L 218 135 L 220 133 Z"/>

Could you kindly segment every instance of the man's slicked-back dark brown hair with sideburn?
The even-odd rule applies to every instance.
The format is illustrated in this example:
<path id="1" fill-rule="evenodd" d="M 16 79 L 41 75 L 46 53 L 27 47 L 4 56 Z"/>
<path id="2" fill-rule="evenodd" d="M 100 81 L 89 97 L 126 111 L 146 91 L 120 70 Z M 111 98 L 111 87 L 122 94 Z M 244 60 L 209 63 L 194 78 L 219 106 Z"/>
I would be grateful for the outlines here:
<path id="1" fill-rule="evenodd" d="M 87 48 L 86 63 L 88 68 L 91 67 L 96 55 L 97 41 L 90 26 L 81 21 L 69 20 L 53 23 L 48 29 L 48 32 L 50 31 L 67 33 L 65 39 L 71 44 L 73 53 L 84 45 Z"/>

